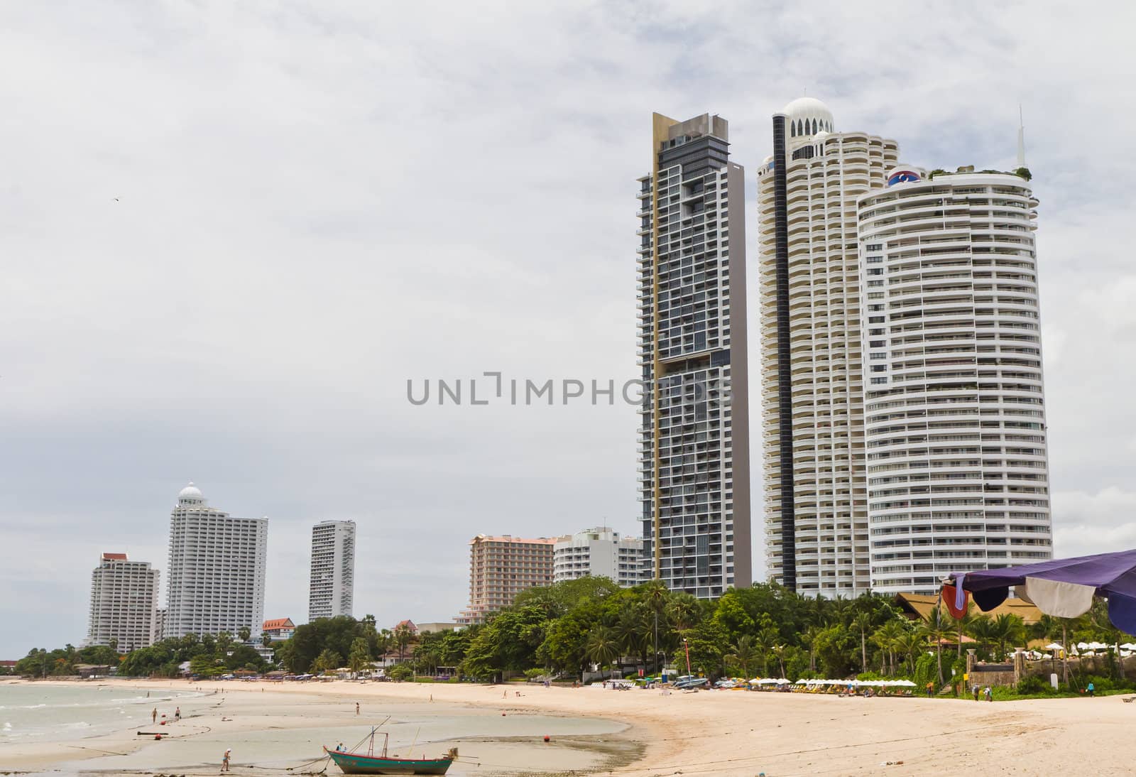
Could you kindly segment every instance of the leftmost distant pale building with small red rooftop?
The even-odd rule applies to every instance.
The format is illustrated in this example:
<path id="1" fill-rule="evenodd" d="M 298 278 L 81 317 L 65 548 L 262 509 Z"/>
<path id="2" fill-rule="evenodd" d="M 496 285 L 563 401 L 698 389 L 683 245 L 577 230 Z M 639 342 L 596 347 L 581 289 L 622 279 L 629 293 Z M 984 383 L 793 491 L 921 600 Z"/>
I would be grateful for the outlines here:
<path id="1" fill-rule="evenodd" d="M 154 642 L 158 570 L 126 553 L 103 553 L 91 573 L 91 616 L 86 645 L 111 645 L 120 653 Z"/>

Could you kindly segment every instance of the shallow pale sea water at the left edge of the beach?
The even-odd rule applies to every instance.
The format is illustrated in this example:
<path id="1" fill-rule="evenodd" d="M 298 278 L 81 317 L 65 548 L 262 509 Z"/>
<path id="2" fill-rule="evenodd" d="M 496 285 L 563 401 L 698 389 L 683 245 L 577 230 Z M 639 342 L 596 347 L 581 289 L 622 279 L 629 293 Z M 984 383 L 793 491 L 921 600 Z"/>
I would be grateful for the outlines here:
<path id="1" fill-rule="evenodd" d="M 149 726 L 156 707 L 173 712 L 176 705 L 202 695 L 194 691 L 112 687 L 97 680 L 75 685 L 0 683 L 0 744 L 85 738 Z"/>

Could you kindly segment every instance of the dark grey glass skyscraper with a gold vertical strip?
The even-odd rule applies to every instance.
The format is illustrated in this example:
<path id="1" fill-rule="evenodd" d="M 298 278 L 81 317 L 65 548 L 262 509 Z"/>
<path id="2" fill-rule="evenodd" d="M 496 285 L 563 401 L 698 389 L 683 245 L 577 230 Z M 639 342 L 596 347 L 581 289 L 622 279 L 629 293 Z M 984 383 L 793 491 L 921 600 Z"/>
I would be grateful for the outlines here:
<path id="1" fill-rule="evenodd" d="M 644 574 L 709 599 L 752 574 L 745 172 L 726 119 L 654 114 L 638 182 Z"/>

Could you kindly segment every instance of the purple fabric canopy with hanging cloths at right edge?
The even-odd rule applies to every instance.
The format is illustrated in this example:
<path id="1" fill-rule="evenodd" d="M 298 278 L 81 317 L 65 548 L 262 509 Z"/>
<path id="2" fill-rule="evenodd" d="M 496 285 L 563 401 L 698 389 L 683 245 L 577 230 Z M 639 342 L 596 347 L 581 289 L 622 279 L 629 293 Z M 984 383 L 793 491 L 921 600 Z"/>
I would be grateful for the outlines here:
<path id="1" fill-rule="evenodd" d="M 1028 598 L 1047 615 L 1070 618 L 1081 615 L 1092 598 L 1109 600 L 1109 620 L 1122 632 L 1136 634 L 1136 550 L 1054 559 L 1020 567 L 982 569 L 955 574 L 962 591 L 969 591 L 980 610 L 1005 601 L 1010 586 L 1025 586 Z"/>

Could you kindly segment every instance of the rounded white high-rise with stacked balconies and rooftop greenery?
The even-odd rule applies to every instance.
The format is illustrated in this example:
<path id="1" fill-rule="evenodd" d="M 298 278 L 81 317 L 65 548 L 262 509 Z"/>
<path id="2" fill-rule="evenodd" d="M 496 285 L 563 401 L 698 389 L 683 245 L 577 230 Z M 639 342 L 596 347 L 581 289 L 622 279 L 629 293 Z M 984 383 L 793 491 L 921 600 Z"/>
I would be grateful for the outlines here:
<path id="1" fill-rule="evenodd" d="M 860 198 L 872 587 L 1052 558 L 1034 229 L 1002 173 Z"/>

